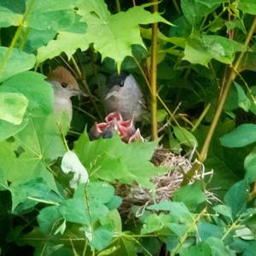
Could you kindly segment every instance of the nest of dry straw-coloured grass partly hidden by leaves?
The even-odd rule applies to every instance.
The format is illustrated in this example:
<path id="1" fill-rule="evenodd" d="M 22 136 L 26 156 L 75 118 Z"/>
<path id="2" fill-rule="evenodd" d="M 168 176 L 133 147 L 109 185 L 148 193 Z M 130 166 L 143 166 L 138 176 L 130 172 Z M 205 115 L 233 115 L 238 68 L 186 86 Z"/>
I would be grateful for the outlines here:
<path id="1" fill-rule="evenodd" d="M 155 185 L 153 193 L 150 189 L 145 189 L 137 183 L 116 184 L 116 193 L 121 196 L 123 201 L 119 207 L 119 212 L 124 218 L 131 218 L 134 215 L 131 207 L 137 207 L 135 215 L 140 215 L 143 210 L 154 203 L 164 200 L 171 200 L 174 192 L 180 187 L 184 173 L 188 172 L 192 163 L 181 155 L 175 155 L 166 148 L 157 148 L 151 160 L 155 166 L 167 167 L 165 174 L 152 177 L 151 182 Z M 201 178 L 199 172 L 195 172 L 193 180 Z"/>

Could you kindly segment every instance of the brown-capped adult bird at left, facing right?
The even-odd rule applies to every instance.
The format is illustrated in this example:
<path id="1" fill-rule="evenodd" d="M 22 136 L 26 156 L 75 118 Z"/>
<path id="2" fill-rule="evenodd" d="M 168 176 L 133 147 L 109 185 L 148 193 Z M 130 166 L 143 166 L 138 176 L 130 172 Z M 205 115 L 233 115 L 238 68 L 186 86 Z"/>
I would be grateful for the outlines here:
<path id="1" fill-rule="evenodd" d="M 71 96 L 83 94 L 79 89 L 77 80 L 73 77 L 65 67 L 56 67 L 49 73 L 46 79 L 52 84 L 55 99 L 54 99 L 54 112 L 61 119 L 61 113 L 67 112 L 68 122 L 71 123 L 73 116 Z"/>

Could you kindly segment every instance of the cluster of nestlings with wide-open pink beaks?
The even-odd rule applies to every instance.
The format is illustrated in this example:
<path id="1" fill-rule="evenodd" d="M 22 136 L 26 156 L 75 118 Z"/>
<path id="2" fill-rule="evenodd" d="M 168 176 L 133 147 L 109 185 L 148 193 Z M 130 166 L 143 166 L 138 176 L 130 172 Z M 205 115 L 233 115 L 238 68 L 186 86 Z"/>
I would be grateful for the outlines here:
<path id="1" fill-rule="evenodd" d="M 91 129 L 94 138 L 112 137 L 113 131 L 117 131 L 125 143 L 134 143 L 144 139 L 139 129 L 135 129 L 133 119 L 123 120 L 119 111 L 109 113 L 104 123 L 95 124 Z"/>

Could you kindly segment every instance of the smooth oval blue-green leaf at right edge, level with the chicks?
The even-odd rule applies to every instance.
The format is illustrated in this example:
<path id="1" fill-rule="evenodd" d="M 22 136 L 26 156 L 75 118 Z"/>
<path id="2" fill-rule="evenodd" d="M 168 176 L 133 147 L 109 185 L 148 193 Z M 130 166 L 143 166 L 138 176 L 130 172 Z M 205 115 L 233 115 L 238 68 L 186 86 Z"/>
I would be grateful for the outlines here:
<path id="1" fill-rule="evenodd" d="M 220 143 L 227 148 L 241 148 L 256 142 L 256 125 L 243 124 L 234 131 L 220 138 Z"/>

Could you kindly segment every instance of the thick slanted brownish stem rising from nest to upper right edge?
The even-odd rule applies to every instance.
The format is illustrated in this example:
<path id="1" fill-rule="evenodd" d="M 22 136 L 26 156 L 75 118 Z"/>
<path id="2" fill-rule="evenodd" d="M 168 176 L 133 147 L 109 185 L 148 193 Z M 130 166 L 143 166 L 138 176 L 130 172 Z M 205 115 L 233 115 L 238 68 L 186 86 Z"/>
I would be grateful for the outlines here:
<path id="1" fill-rule="evenodd" d="M 255 28 L 256 28 L 256 16 L 254 16 L 253 24 L 250 27 L 249 32 L 247 33 L 247 38 L 246 38 L 245 43 L 244 43 L 244 45 L 246 47 L 248 47 L 248 44 L 249 44 L 249 42 L 251 41 L 251 39 L 253 37 L 253 32 L 254 32 Z M 221 98 L 219 99 L 218 108 L 216 109 L 216 112 L 215 112 L 214 117 L 212 119 L 212 124 L 210 125 L 209 131 L 207 133 L 207 138 L 205 140 L 205 143 L 203 144 L 203 147 L 201 148 L 201 154 L 200 154 L 200 157 L 199 157 L 199 160 L 201 162 L 203 162 L 207 158 L 207 152 L 208 152 L 208 149 L 210 147 L 210 143 L 212 141 L 214 131 L 215 131 L 217 125 L 218 125 L 218 119 L 220 118 L 220 115 L 223 111 L 224 103 L 225 103 L 226 98 L 229 94 L 231 84 L 236 79 L 236 75 L 237 75 L 236 70 L 239 69 L 239 66 L 241 64 L 241 60 L 242 60 L 242 57 L 244 56 L 244 54 L 245 54 L 245 52 L 242 51 L 240 53 L 240 55 L 238 55 L 237 60 L 235 61 L 234 65 L 230 69 L 230 75 L 228 76 L 228 80 L 227 80 L 226 84 L 224 84 L 224 90 L 222 92 Z"/>

